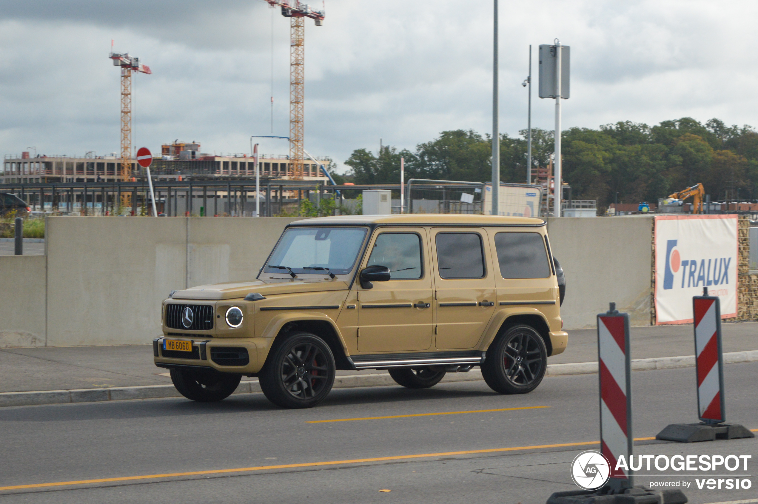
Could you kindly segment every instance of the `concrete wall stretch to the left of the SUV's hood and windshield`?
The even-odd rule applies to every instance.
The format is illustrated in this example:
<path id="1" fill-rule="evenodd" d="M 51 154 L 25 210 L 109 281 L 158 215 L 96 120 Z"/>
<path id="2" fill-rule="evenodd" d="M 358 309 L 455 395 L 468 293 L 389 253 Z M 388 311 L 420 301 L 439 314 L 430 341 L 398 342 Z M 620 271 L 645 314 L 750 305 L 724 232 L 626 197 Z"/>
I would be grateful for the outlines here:
<path id="1" fill-rule="evenodd" d="M 296 220 L 48 218 L 45 256 L 0 257 L 0 347 L 149 343 L 171 290 L 255 278 Z"/>

